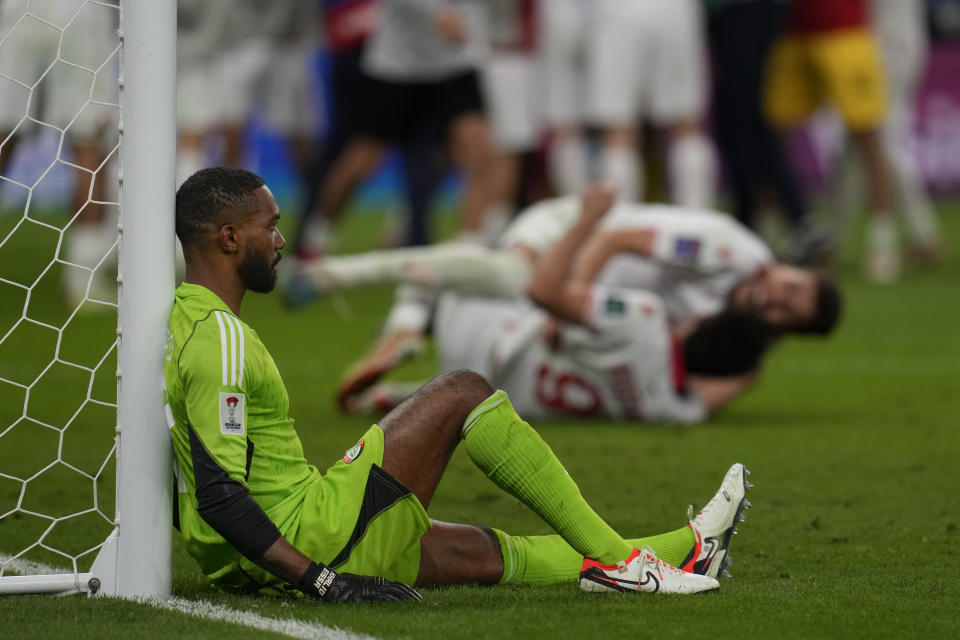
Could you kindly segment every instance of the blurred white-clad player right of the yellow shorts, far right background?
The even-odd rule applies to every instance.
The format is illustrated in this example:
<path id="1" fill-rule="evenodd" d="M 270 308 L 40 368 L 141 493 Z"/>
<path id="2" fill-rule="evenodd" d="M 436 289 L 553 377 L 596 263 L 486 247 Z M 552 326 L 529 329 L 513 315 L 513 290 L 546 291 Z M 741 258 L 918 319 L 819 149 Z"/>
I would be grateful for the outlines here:
<path id="1" fill-rule="evenodd" d="M 890 107 L 882 126 L 892 186 L 909 234 L 908 258 L 936 262 L 941 254 L 940 224 L 909 146 L 914 123 L 914 94 L 926 66 L 929 35 L 922 0 L 870 0 L 871 22 L 880 42 Z M 852 210 L 854 165 L 844 154 L 840 175 L 841 215 Z"/>

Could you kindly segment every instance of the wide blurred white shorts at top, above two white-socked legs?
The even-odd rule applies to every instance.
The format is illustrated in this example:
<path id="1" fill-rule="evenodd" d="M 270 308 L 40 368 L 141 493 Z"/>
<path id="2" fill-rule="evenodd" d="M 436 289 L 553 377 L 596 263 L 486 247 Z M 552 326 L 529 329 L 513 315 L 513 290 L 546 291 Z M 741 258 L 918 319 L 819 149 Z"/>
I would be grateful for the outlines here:
<path id="1" fill-rule="evenodd" d="M 587 119 L 633 126 L 699 120 L 706 108 L 703 16 L 697 0 L 595 0 Z"/>

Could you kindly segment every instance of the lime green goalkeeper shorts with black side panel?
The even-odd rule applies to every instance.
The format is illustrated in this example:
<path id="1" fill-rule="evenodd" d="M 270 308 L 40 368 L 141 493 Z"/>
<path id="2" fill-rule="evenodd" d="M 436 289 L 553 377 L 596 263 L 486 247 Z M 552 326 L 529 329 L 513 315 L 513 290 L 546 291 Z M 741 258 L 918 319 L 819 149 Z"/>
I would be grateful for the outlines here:
<path id="1" fill-rule="evenodd" d="M 420 537 L 430 529 L 430 519 L 382 464 L 383 431 L 373 425 L 307 492 L 290 542 L 336 571 L 412 585 L 420 571 Z"/>

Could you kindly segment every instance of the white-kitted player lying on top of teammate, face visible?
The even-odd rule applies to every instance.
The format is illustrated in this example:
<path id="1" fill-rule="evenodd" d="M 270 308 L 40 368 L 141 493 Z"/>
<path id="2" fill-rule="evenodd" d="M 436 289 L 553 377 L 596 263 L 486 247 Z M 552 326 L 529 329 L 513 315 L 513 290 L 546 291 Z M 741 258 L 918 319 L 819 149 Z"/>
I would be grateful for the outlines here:
<path id="1" fill-rule="evenodd" d="M 538 261 L 580 210 L 578 197 L 533 205 L 499 249 L 450 243 L 300 264 L 284 294 L 299 306 L 342 287 L 403 284 L 380 341 L 355 367 L 362 378 L 422 352 L 437 290 L 523 296 Z M 825 335 L 841 306 L 832 278 L 774 262 L 763 242 L 729 216 L 668 205 L 616 203 L 586 238 L 570 279 L 654 293 L 672 327 L 727 309 L 754 315 L 776 334 Z"/>

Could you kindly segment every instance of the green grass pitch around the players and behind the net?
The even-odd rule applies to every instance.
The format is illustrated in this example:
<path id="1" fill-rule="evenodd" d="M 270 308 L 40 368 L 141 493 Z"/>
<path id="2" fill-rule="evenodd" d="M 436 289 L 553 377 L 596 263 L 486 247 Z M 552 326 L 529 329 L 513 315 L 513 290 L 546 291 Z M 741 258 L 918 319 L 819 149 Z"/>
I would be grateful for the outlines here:
<path id="1" fill-rule="evenodd" d="M 897 284 L 859 276 L 860 229 L 837 271 L 846 293 L 842 324 L 829 340 L 791 339 L 768 358 L 760 383 L 710 423 L 694 428 L 613 422 L 539 422 L 584 495 L 621 533 L 642 535 L 685 523 L 688 504 L 714 492 L 728 465 L 744 462 L 756 488 L 732 548 L 732 580 L 702 597 L 590 596 L 576 585 L 428 590 L 422 604 L 327 607 L 218 594 L 174 540 L 175 595 L 266 617 L 298 619 L 381 638 L 589 637 L 956 637 L 960 619 L 960 206 L 941 207 L 950 238 L 944 264 L 908 272 Z M 0 217 L 0 238 L 16 224 Z M 62 219 L 53 216 L 53 224 Z M 371 246 L 366 215 L 347 221 L 342 250 Z M 375 234 L 374 234 L 375 235 Z M 29 225 L 0 247 L 0 277 L 43 274 L 56 234 Z M 58 273 L 43 276 L 30 316 L 60 326 Z M 0 335 L 20 317 L 25 295 L 0 282 Z M 338 376 L 368 342 L 389 291 L 350 292 L 289 313 L 277 296 L 251 294 L 243 316 L 271 349 L 286 380 L 308 458 L 321 468 L 350 447 L 369 421 L 338 415 Z M 79 317 L 61 353 L 93 368 L 113 340 L 112 318 Z M 37 325 L 0 345 L 0 377 L 31 380 L 49 363 L 57 335 Z M 37 354 L 42 354 L 38 356 Z M 0 383 L 0 473 L 27 477 L 61 460 L 96 476 L 113 418 L 90 406 L 86 389 L 115 396 L 115 360 L 96 375 L 55 364 L 31 392 L 28 413 L 71 426 L 61 434 L 20 421 L 24 392 Z M 405 375 L 426 376 L 429 362 Z M 4 431 L 6 430 L 6 431 Z M 59 453 L 58 453 L 59 452 Z M 94 483 L 63 464 L 32 481 L 22 506 L 63 515 L 94 502 L 113 515 L 108 464 Z M 0 515 L 21 485 L 0 476 Z M 96 500 L 92 496 L 96 496 Z M 458 453 L 433 517 L 514 533 L 546 526 L 502 494 Z M 0 554 L 16 553 L 49 526 L 17 513 L 0 520 Z M 70 554 L 96 544 L 109 524 L 95 512 L 54 528 L 45 541 Z M 64 566 L 50 551 L 30 559 Z M 91 556 L 81 558 L 81 569 Z M 83 596 L 0 598 L 0 637 L 247 638 L 273 634 L 147 605 Z M 278 636 L 279 637 L 279 636 Z"/>

